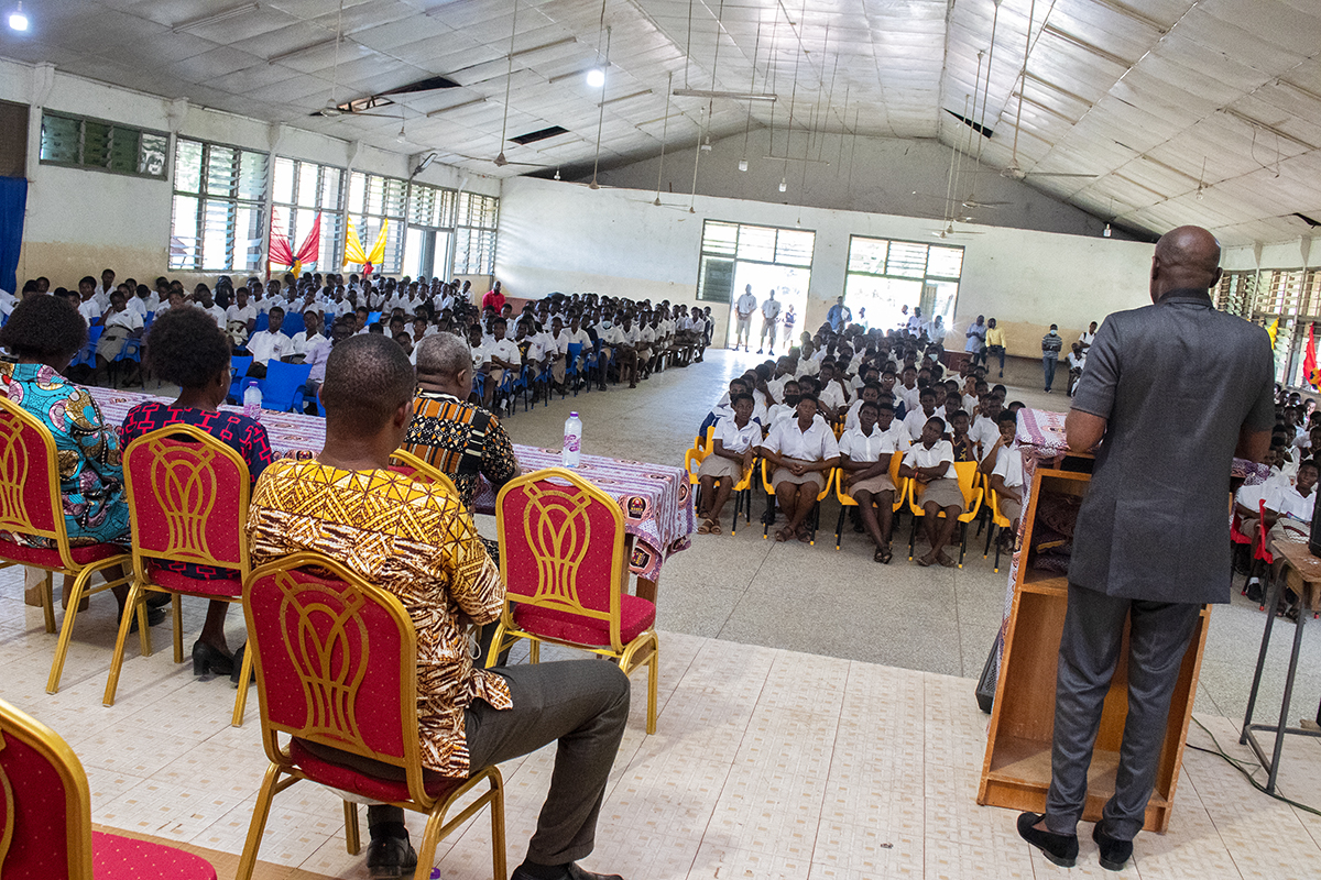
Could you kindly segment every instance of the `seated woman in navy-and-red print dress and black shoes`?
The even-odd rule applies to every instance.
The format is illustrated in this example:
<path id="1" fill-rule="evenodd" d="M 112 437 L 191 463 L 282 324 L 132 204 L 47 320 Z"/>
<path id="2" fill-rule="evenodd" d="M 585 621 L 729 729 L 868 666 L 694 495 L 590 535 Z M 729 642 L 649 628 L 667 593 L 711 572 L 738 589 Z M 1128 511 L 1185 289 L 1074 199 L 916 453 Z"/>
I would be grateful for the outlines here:
<path id="1" fill-rule="evenodd" d="M 147 334 L 147 356 L 156 376 L 180 387 L 172 404 L 164 400 L 139 404 L 128 410 L 119 431 L 120 447 L 168 425 L 193 425 L 225 442 L 247 464 L 252 483 L 275 459 L 260 422 L 221 409 L 230 393 L 230 343 L 199 309 L 170 309 Z M 161 567 L 199 581 L 238 578 L 238 571 L 185 562 L 161 562 Z M 230 603 L 211 600 L 202 635 L 193 645 L 193 674 L 207 672 L 232 676 L 243 665 L 243 649 L 230 653 L 225 640 L 225 615 Z M 235 662 L 238 661 L 238 662 Z"/>

